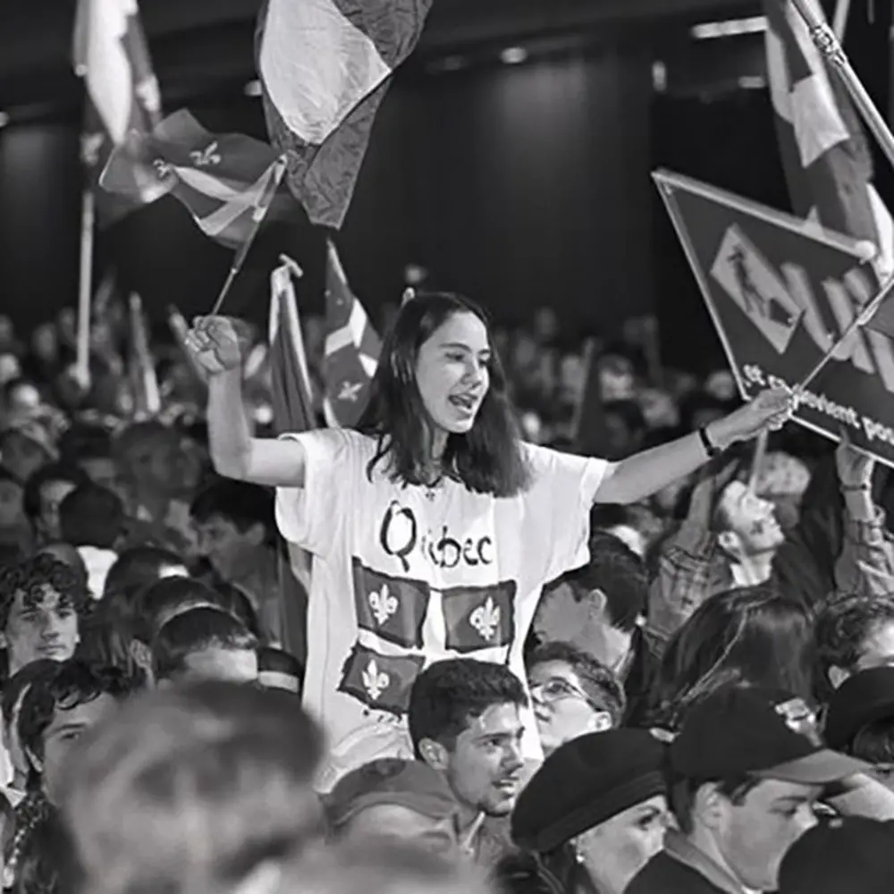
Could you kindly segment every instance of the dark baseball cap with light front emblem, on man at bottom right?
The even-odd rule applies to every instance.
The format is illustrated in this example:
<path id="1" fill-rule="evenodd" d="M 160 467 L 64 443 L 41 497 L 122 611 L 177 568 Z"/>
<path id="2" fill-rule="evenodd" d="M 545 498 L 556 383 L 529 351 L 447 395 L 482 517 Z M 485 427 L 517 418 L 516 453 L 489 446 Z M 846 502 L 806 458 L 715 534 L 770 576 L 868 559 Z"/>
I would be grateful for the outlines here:
<path id="1" fill-rule="evenodd" d="M 804 699 L 758 687 L 721 687 L 683 717 L 671 769 L 689 779 L 737 774 L 825 785 L 868 765 L 823 746 Z"/>

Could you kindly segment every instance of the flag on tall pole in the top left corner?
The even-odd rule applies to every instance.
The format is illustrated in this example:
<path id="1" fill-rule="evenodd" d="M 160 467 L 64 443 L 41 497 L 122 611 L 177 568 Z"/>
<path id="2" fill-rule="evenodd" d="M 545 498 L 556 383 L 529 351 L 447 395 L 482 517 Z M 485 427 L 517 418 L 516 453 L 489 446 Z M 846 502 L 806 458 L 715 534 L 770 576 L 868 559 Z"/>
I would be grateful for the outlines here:
<path id="1" fill-rule="evenodd" d="M 97 187 L 114 147 L 131 131 L 148 133 L 161 117 L 158 81 L 137 0 L 79 0 L 72 55 L 86 93 L 81 156 L 89 181 Z M 100 225 L 114 223 L 140 205 L 135 199 L 94 191 Z"/>

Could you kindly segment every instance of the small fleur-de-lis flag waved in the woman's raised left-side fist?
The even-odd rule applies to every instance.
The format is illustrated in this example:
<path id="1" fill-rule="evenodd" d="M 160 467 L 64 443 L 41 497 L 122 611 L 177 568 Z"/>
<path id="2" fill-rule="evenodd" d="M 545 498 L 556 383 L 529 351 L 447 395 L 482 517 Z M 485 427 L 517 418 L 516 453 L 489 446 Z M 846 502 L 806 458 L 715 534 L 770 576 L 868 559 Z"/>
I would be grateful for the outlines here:
<path id="1" fill-rule="evenodd" d="M 275 203 L 284 161 L 273 148 L 241 133 L 209 133 L 181 109 L 149 134 L 131 131 L 100 177 L 104 190 L 143 204 L 171 193 L 199 229 L 228 248 L 250 238 Z"/>

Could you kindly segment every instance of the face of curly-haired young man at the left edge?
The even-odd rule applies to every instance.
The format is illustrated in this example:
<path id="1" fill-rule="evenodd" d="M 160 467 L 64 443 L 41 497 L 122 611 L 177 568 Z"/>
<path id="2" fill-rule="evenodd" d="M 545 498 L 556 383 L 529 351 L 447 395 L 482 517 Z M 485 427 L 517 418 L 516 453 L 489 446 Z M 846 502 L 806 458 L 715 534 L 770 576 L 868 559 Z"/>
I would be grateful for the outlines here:
<path id="1" fill-rule="evenodd" d="M 13 599 L 0 645 L 9 653 L 12 675 L 38 658 L 63 662 L 78 645 L 78 615 L 71 599 L 53 586 L 19 590 Z"/>

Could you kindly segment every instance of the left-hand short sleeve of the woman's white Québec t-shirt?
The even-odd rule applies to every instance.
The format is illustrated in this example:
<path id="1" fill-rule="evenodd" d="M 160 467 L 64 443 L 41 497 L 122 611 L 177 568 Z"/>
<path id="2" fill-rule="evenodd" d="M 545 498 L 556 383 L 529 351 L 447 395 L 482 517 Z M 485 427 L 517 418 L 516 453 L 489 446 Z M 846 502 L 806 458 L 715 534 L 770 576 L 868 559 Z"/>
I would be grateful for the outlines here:
<path id="1" fill-rule="evenodd" d="M 342 539 L 366 438 L 342 428 L 283 434 L 304 448 L 304 486 L 276 489 L 276 526 L 291 544 L 326 555 Z"/>

